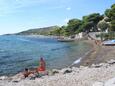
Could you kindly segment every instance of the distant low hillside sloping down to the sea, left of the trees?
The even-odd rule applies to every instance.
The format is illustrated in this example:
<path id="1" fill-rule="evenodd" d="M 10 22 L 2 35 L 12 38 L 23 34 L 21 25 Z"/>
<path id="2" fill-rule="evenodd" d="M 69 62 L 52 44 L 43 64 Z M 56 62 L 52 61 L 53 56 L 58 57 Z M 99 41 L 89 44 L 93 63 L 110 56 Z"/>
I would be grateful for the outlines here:
<path id="1" fill-rule="evenodd" d="M 59 26 L 51 26 L 44 28 L 30 29 L 16 33 L 16 35 L 49 35 L 50 31 L 60 28 Z"/>

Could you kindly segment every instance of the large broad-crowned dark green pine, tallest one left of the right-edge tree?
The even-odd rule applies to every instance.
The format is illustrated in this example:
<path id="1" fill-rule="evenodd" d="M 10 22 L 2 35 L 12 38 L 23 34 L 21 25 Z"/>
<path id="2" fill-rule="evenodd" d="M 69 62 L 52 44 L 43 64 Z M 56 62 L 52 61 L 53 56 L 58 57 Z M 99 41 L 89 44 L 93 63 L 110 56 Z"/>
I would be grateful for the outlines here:
<path id="1" fill-rule="evenodd" d="M 103 19 L 103 15 L 99 13 L 92 13 L 87 16 L 83 16 L 82 25 L 79 28 L 79 31 L 90 32 L 90 31 L 98 31 L 97 23 Z M 78 32 L 79 32 L 78 31 Z"/>

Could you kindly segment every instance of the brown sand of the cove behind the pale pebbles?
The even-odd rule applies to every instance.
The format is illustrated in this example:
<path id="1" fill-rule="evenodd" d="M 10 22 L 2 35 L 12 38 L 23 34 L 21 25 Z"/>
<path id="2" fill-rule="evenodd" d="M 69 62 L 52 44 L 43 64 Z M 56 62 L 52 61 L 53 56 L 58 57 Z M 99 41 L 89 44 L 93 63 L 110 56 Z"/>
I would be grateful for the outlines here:
<path id="1" fill-rule="evenodd" d="M 83 66 L 91 66 L 92 64 L 99 64 L 115 59 L 115 46 L 96 45 L 93 40 L 85 41 L 92 45 L 92 50 L 79 63 Z"/>

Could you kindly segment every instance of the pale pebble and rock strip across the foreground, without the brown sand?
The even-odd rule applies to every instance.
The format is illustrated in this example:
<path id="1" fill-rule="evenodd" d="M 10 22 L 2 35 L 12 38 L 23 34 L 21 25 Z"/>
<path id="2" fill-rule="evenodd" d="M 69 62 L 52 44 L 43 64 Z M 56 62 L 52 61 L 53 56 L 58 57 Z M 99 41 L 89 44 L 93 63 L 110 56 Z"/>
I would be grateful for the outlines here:
<path id="1" fill-rule="evenodd" d="M 115 60 L 80 66 L 53 69 L 52 74 L 33 80 L 13 77 L 0 77 L 0 86 L 115 86 Z"/>

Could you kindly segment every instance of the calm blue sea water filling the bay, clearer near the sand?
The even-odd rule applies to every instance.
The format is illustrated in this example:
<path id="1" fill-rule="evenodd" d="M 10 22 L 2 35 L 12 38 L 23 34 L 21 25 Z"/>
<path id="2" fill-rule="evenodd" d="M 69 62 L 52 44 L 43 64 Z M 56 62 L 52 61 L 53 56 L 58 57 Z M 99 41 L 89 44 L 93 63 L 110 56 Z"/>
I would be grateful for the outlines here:
<path id="1" fill-rule="evenodd" d="M 90 50 L 84 42 L 58 42 L 47 37 L 0 36 L 0 75 L 12 75 L 38 66 L 40 57 L 47 68 L 63 68 Z"/>

